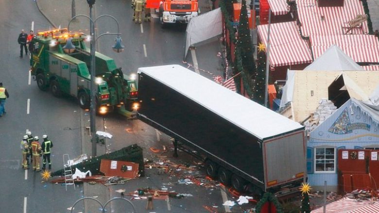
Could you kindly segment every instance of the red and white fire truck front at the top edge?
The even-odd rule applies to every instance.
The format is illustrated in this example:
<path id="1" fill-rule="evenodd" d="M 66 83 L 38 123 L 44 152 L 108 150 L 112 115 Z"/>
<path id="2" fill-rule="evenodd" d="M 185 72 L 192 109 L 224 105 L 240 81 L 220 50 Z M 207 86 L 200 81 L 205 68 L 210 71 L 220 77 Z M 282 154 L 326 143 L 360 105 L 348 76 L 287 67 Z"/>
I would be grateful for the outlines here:
<path id="1" fill-rule="evenodd" d="M 166 23 L 188 23 L 198 13 L 197 0 L 161 0 L 159 3 L 159 20 L 162 26 Z"/>

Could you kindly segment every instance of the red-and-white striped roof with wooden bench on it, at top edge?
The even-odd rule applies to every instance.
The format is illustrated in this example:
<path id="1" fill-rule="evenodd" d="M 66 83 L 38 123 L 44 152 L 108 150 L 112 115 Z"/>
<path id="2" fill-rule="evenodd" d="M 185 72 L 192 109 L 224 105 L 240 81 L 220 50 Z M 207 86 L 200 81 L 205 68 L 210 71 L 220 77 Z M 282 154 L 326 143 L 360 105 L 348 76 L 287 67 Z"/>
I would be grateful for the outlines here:
<path id="1" fill-rule="evenodd" d="M 347 29 L 343 27 L 347 27 L 351 19 L 364 15 L 360 0 L 345 0 L 343 7 L 318 7 L 316 0 L 296 0 L 296 4 L 304 36 L 344 34 Z M 368 33 L 367 21 L 351 33 Z"/>

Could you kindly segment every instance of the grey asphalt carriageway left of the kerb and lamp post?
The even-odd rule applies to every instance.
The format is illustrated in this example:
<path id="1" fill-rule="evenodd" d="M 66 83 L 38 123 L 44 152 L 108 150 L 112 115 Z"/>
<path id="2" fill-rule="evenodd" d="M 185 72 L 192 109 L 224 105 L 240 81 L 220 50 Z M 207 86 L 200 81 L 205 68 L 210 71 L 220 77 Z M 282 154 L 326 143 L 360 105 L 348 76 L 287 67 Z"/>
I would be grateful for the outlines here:
<path id="1" fill-rule="evenodd" d="M 62 168 L 64 153 L 78 155 L 81 150 L 76 102 L 39 91 L 33 80 L 29 85 L 29 57 L 18 57 L 17 36 L 21 29 L 28 32 L 32 21 L 34 28 L 49 26 L 33 0 L 0 0 L 0 82 L 10 94 L 5 105 L 7 114 L 0 118 L 0 212 L 3 213 L 64 212 L 83 193 L 81 186 L 66 192 L 60 184 L 43 183 L 40 173 L 32 169 L 26 172 L 20 167 L 19 146 L 27 129 L 40 138 L 43 134 L 50 136 L 54 143 L 53 169 Z"/>

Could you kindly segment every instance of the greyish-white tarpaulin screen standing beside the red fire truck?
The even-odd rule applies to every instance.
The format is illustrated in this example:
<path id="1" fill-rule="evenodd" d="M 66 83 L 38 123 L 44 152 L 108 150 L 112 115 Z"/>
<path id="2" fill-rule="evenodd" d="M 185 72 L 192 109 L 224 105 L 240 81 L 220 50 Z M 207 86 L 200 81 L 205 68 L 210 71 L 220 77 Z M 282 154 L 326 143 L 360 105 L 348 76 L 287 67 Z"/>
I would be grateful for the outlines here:
<path id="1" fill-rule="evenodd" d="M 222 32 L 223 26 L 220 8 L 191 18 L 186 30 L 184 59 L 186 59 L 189 47 L 220 35 Z"/>

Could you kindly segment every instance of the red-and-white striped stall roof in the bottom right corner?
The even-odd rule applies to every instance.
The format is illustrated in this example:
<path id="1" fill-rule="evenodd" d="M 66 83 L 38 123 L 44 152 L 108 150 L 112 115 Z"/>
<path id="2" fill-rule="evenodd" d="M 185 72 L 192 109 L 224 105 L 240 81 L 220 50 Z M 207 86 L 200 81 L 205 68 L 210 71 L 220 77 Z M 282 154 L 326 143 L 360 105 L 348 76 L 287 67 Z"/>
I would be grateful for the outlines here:
<path id="1" fill-rule="evenodd" d="M 310 213 L 323 213 L 324 208 L 318 208 Z M 358 202 L 347 197 L 327 204 L 326 213 L 379 213 L 379 203 L 368 200 Z"/>

